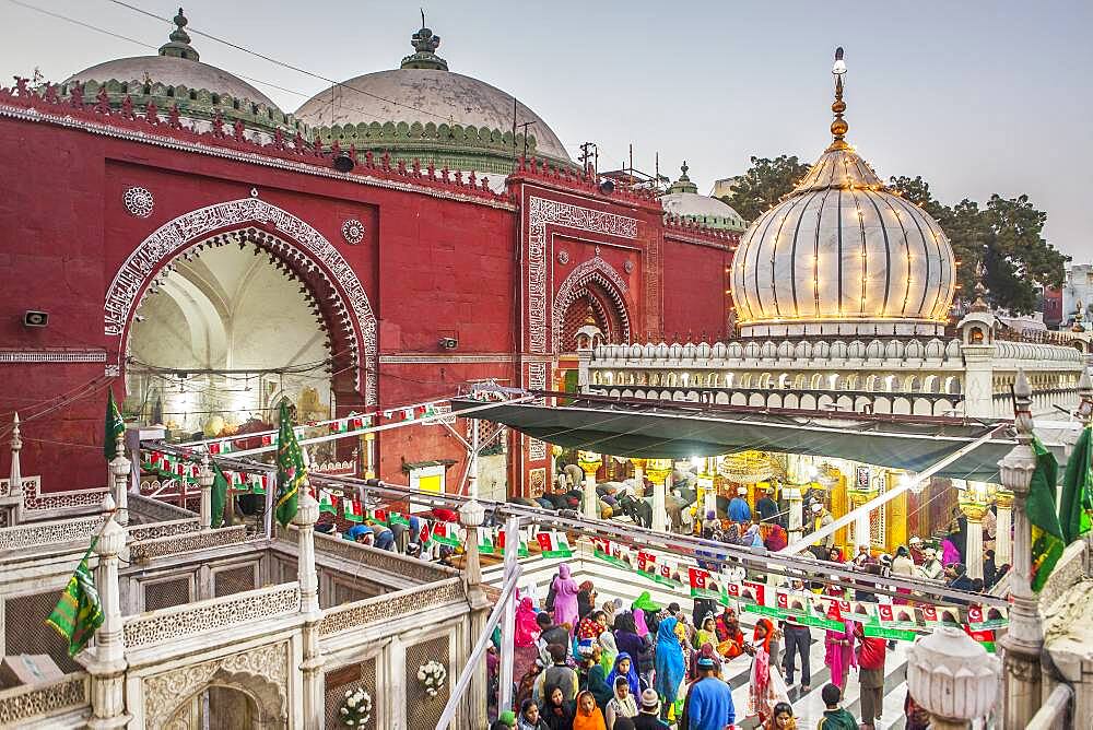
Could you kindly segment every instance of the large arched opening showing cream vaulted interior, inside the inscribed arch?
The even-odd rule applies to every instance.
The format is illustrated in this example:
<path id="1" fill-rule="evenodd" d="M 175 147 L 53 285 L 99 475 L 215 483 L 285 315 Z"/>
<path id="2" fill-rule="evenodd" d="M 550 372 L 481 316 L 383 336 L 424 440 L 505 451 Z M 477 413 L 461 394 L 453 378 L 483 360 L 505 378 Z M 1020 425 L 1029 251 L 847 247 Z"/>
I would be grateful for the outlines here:
<path id="1" fill-rule="evenodd" d="M 282 397 L 298 421 L 333 414 L 334 374 L 353 362 L 352 338 L 330 326 L 325 293 L 315 292 L 306 268 L 286 261 L 286 247 L 245 227 L 207 238 L 161 269 L 127 338 L 127 393 L 145 422 L 226 435 L 273 423 Z"/>

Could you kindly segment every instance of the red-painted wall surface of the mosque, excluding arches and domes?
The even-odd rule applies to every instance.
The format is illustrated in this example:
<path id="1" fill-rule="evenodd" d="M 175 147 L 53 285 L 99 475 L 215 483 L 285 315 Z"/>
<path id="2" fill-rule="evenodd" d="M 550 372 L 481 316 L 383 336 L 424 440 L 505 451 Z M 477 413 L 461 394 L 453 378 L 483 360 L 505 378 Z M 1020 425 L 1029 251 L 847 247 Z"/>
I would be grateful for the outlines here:
<path id="1" fill-rule="evenodd" d="M 262 151 L 249 142 L 151 128 L 140 119 L 50 107 L 7 91 L 0 91 L 0 104 L 30 105 L 47 115 L 60 109 L 77 120 L 137 129 L 163 140 L 174 137 L 212 151 L 223 148 L 282 160 L 292 156 L 280 150 Z M 321 158 L 296 160 L 294 164 L 327 169 Z M 687 329 L 724 331 L 722 272 L 728 252 L 666 237 L 662 211 L 655 200 L 625 191 L 603 196 L 592 182 L 556 170 L 522 170 L 510 178 L 506 199 L 457 185 L 415 181 L 412 175 L 376 167 L 357 170 L 372 176 L 371 180 L 357 175 L 344 179 L 256 164 L 260 161 L 0 118 L 0 169 L 15 181 L 0 196 L 0 278 L 4 281 L 0 351 L 7 351 L 7 361 L 27 354 L 40 358 L 50 349 L 101 352 L 106 360 L 0 361 L 4 385 L 0 389 L 0 439 L 7 440 L 7 423 L 15 410 L 32 416 L 23 427 L 23 473 L 42 474 L 45 491 L 104 482 L 103 414 L 105 388 L 111 382 L 105 373 L 117 364 L 124 349 L 122 338 L 104 333 L 104 297 L 119 267 L 165 223 L 208 205 L 247 198 L 251 189 L 316 228 L 360 279 L 377 317 L 379 410 L 447 397 L 473 379 L 527 385 L 529 355 L 540 361 L 551 356 L 550 352 L 529 353 L 526 337 L 527 200 L 531 193 L 637 222 L 633 237 L 565 225 L 552 228 L 544 261 L 548 349 L 554 293 L 575 267 L 597 256 L 626 284 L 621 298 L 634 340 L 659 340 L 671 331 L 682 335 Z M 131 186 L 153 193 L 155 207 L 149 217 L 136 217 L 126 210 L 124 193 Z M 342 222 L 350 217 L 365 225 L 364 240 L 355 246 L 341 234 Z M 272 231 L 269 225 L 266 229 Z M 561 250 L 568 257 L 565 263 L 559 260 Z M 23 327 L 27 309 L 48 311 L 49 326 Z M 458 340 L 455 351 L 439 346 L 446 337 Z M 548 364 L 548 385 L 552 370 Z M 86 392 L 80 390 L 82 386 Z M 113 387 L 117 398 L 124 397 L 124 378 L 114 378 Z M 364 407 L 363 396 L 352 388 L 348 378 L 336 382 L 340 415 Z M 84 397 L 50 412 L 51 399 L 66 393 Z M 462 421 L 455 428 L 466 433 Z M 395 429 L 381 434 L 377 443 L 379 475 L 385 479 L 404 483 L 403 461 L 438 459 L 457 461 L 448 471 L 449 487 L 455 487 L 461 474 L 463 449 L 443 427 Z M 8 454 L 5 447 L 0 448 L 4 472 Z M 513 491 L 525 488 L 526 467 L 517 455 Z"/>

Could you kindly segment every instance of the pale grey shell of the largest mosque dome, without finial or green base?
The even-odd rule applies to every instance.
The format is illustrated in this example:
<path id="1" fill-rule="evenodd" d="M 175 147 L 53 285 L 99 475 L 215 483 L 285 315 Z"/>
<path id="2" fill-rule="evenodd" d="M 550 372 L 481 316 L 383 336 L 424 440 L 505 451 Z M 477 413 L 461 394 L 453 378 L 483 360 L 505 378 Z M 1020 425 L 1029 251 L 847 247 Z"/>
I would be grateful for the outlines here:
<path id="1" fill-rule="evenodd" d="M 366 73 L 327 89 L 305 102 L 296 119 L 312 127 L 372 122 L 447 123 L 478 129 L 513 129 L 513 96 L 484 81 L 443 69 L 401 68 Z M 546 122 L 517 103 L 517 120 L 530 121 L 536 153 L 569 161 Z"/>

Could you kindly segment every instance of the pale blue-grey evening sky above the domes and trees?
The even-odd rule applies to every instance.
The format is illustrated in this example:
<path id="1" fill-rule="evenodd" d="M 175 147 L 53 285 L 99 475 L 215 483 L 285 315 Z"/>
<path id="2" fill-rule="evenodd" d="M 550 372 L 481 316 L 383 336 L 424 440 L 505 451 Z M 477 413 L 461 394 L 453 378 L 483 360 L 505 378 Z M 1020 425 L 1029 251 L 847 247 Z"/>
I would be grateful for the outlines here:
<path id="1" fill-rule="evenodd" d="M 25 0 L 153 46 L 169 27 L 108 0 Z M 173 15 L 177 4 L 132 0 Z M 348 79 L 396 68 L 419 3 L 185 3 L 204 30 L 309 71 Z M 882 177 L 922 175 L 945 202 L 1026 192 L 1047 237 L 1093 260 L 1093 3 L 1042 2 L 433 2 L 427 24 L 453 71 L 515 94 L 571 151 L 715 178 L 752 154 L 812 161 L 826 145 L 831 59 L 846 48 L 848 139 Z M 48 79 L 140 46 L 0 0 L 0 72 Z M 322 82 L 200 36 L 201 60 L 314 94 Z M 257 84 L 285 110 L 304 96 Z"/>

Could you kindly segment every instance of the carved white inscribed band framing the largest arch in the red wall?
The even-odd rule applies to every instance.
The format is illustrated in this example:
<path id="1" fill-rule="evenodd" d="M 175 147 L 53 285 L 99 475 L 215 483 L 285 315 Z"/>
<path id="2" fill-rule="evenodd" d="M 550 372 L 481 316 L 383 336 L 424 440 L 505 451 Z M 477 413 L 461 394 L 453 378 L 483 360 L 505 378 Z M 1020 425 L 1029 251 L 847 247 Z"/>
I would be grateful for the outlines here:
<path id="1" fill-rule="evenodd" d="M 356 390 L 366 403 L 375 404 L 377 325 L 364 285 L 322 234 L 257 197 L 184 213 L 133 249 L 106 291 L 105 331 L 120 338 L 119 353 L 126 351 L 132 315 L 160 272 L 192 248 L 228 242 L 262 248 L 313 290 L 336 352 L 345 353 L 345 366 L 355 373 Z"/>

